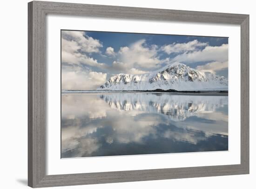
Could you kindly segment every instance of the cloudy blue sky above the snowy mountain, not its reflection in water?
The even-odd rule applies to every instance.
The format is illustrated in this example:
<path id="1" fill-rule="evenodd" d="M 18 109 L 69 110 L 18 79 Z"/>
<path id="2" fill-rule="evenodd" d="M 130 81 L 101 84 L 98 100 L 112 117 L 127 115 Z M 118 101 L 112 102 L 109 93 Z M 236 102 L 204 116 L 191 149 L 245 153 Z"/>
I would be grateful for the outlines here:
<path id="1" fill-rule="evenodd" d="M 61 31 L 63 89 L 95 89 L 118 74 L 143 74 L 180 62 L 228 77 L 228 38 Z"/>

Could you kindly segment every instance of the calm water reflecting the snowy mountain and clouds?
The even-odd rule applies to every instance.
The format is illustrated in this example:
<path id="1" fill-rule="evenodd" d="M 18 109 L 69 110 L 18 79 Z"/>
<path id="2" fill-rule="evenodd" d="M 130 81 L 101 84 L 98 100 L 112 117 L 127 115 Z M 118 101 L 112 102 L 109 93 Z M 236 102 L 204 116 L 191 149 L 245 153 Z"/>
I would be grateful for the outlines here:
<path id="1" fill-rule="evenodd" d="M 228 150 L 228 96 L 62 94 L 61 157 Z"/>

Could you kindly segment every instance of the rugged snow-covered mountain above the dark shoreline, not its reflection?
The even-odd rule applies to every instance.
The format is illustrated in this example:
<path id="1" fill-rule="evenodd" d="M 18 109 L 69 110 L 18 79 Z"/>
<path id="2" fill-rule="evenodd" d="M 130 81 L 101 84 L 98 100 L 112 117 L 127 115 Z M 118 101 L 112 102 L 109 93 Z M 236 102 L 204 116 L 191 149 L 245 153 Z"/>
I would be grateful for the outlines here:
<path id="1" fill-rule="evenodd" d="M 141 75 L 117 74 L 111 76 L 97 90 L 227 90 L 228 80 L 223 76 L 204 73 L 183 63 L 172 63 L 162 69 Z"/>

